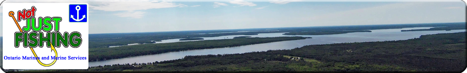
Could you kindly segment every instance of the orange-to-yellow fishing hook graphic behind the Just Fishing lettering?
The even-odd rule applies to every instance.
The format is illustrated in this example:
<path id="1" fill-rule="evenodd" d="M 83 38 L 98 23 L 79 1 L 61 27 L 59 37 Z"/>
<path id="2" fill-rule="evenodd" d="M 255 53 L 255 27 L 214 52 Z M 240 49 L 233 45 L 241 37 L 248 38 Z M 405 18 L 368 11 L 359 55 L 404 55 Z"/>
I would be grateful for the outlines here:
<path id="1" fill-rule="evenodd" d="M 13 21 L 14 21 L 14 23 L 16 23 L 16 26 L 18 26 L 18 29 L 20 29 L 20 31 L 23 32 L 23 30 L 21 29 L 20 25 L 18 24 L 18 22 L 17 22 L 16 19 L 14 18 L 14 12 L 13 12 L 13 11 L 10 11 L 8 14 L 9 14 L 10 17 L 13 18 Z M 58 56 L 58 55 L 57 55 L 57 50 L 55 50 L 54 45 L 52 45 L 52 43 L 50 42 L 50 40 L 49 40 L 49 43 L 50 43 L 50 48 L 51 48 L 51 51 L 50 51 L 50 52 L 54 51 L 54 52 L 55 52 L 55 57 L 57 57 L 57 56 Z M 39 60 L 39 58 L 37 57 L 37 55 L 36 55 L 35 52 L 34 52 L 34 49 L 32 49 L 31 47 L 29 47 L 29 49 L 31 49 L 32 54 L 34 54 L 34 57 L 36 58 L 37 62 L 39 62 L 39 64 L 41 64 L 42 66 L 52 66 L 52 65 L 55 64 L 55 62 L 57 62 L 57 59 L 54 59 L 54 61 L 53 61 L 52 63 L 50 63 L 50 64 L 44 64 L 44 63 L 41 62 L 41 60 Z"/>

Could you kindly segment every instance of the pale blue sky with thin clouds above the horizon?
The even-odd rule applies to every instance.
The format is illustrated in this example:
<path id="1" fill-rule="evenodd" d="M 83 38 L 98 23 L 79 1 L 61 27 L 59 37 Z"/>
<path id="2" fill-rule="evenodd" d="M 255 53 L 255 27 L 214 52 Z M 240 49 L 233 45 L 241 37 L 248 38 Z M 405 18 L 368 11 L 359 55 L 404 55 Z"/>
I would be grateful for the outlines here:
<path id="1" fill-rule="evenodd" d="M 6 0 L 4 3 L 88 3 L 90 34 L 466 22 L 466 3 L 461 0 Z"/>

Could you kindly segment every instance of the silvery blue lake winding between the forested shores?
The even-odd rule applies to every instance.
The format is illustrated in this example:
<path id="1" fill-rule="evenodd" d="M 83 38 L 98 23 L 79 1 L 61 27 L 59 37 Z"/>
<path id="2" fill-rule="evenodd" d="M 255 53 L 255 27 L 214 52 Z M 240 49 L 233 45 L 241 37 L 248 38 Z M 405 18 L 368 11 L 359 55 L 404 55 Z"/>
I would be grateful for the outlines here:
<path id="1" fill-rule="evenodd" d="M 417 27 L 417 28 L 403 28 L 403 29 L 375 29 L 372 32 L 354 32 L 346 34 L 334 34 L 334 35 L 282 35 L 284 33 L 264 33 L 258 35 L 248 35 L 252 37 L 277 37 L 277 36 L 304 36 L 313 37 L 302 40 L 293 41 L 281 41 L 266 44 L 253 44 L 244 45 L 237 47 L 226 47 L 226 48 L 215 48 L 215 49 L 203 49 L 203 50 L 190 50 L 190 51 L 175 51 L 161 54 L 135 56 L 128 58 L 108 59 L 101 61 L 89 62 L 89 66 L 104 66 L 113 64 L 132 64 L 132 63 L 149 63 L 155 61 L 164 61 L 183 58 L 188 55 L 208 55 L 208 54 L 234 54 L 234 53 L 246 53 L 252 51 L 268 51 L 268 50 L 288 50 L 305 45 L 312 44 L 334 44 L 334 43 L 354 43 L 354 42 L 374 42 L 374 41 L 394 41 L 394 40 L 407 40 L 411 38 L 418 38 L 421 35 L 438 34 L 438 33 L 455 33 L 465 32 L 465 29 L 459 30 L 439 30 L 439 31 L 407 31 L 401 32 L 401 30 L 410 29 L 430 29 L 433 27 Z M 233 36 L 218 36 L 218 37 L 201 37 L 205 40 L 216 40 L 216 39 L 232 39 L 235 36 L 245 35 L 233 35 Z M 199 41 L 199 40 L 190 40 Z M 172 42 L 184 42 L 178 39 L 162 40 L 157 43 L 172 43 Z M 137 44 L 135 44 L 137 45 Z"/>

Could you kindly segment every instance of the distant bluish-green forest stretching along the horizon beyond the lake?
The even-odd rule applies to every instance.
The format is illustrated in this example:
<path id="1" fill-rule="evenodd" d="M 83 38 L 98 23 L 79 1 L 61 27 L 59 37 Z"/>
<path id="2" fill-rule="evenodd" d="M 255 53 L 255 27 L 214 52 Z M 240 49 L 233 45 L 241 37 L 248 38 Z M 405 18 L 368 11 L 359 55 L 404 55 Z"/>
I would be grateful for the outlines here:
<path id="1" fill-rule="evenodd" d="M 262 28 L 262 29 L 222 29 L 222 30 L 194 30 L 194 31 L 167 31 L 167 32 L 139 32 L 139 33 L 106 33 L 89 34 L 89 48 L 127 45 L 135 43 L 154 43 L 154 40 L 215 37 L 229 35 L 257 35 L 259 33 L 280 32 L 314 32 L 314 31 L 348 31 L 370 29 L 401 29 L 413 27 L 465 27 L 466 22 L 452 23 L 418 23 L 418 24 L 384 24 L 384 25 L 351 25 L 351 26 L 317 26 L 317 27 L 290 27 L 290 28 Z M 278 30 L 278 31 L 265 31 Z M 256 32 L 238 32 L 256 31 Z M 235 33 L 221 33 L 235 32 Z M 200 34 L 216 33 L 216 34 Z M 157 42 L 156 42 L 157 43 Z"/>

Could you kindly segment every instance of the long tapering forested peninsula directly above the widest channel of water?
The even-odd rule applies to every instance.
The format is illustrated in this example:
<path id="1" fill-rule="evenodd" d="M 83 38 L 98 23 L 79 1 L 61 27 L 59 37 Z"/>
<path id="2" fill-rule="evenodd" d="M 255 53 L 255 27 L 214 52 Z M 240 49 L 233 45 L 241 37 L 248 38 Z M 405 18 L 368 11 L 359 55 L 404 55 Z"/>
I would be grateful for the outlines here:
<path id="1" fill-rule="evenodd" d="M 308 37 L 252 37 L 252 38 L 233 38 L 220 40 L 202 40 L 162 44 L 138 44 L 111 48 L 90 48 L 89 61 L 106 60 L 114 58 L 124 58 L 131 56 L 141 56 L 148 54 L 158 54 L 171 51 L 186 51 L 198 49 L 212 49 L 223 47 L 234 47 L 250 44 L 263 44 L 279 41 L 290 41 L 306 39 Z"/>

